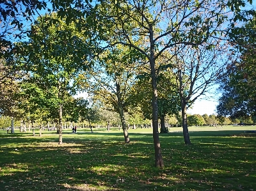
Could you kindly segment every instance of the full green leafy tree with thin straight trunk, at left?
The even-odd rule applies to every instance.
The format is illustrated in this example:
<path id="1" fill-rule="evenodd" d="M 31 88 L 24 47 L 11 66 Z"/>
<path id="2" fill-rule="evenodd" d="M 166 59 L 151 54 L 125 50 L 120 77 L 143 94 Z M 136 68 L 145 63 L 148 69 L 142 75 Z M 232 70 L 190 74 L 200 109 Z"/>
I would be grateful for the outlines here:
<path id="1" fill-rule="evenodd" d="M 28 42 L 19 44 L 20 65 L 25 66 L 37 86 L 48 90 L 58 105 L 59 144 L 62 144 L 64 100 L 76 93 L 79 72 L 90 66 L 87 61 L 90 43 L 82 34 L 74 23 L 67 26 L 52 13 L 39 17 L 31 26 Z"/>

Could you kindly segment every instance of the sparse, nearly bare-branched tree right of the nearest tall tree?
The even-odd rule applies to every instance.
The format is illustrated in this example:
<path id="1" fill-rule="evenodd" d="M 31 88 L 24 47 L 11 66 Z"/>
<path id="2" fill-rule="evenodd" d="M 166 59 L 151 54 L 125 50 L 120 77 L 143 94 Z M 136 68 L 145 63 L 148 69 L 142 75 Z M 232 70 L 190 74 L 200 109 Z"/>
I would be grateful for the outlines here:
<path id="1" fill-rule="evenodd" d="M 185 144 L 191 144 L 188 131 L 187 109 L 200 98 L 212 93 L 212 86 L 218 83 L 225 67 L 230 63 L 227 45 L 211 38 L 202 45 L 179 46 L 175 48 L 173 65 L 176 75 L 176 88 L 182 108 L 182 128 Z M 185 89 L 186 88 L 186 89 Z"/>

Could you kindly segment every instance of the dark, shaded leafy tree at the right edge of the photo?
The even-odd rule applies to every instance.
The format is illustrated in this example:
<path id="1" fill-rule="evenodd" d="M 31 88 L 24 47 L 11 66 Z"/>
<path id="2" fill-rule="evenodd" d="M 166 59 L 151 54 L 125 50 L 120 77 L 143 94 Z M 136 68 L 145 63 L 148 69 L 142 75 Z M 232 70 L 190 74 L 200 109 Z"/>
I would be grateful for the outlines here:
<path id="1" fill-rule="evenodd" d="M 246 31 L 256 30 L 256 19 L 244 26 Z M 244 36 L 236 42 L 241 56 L 227 67 L 227 75 L 221 80 L 222 93 L 217 106 L 218 114 L 229 115 L 231 119 L 248 118 L 256 114 L 255 81 L 255 36 Z"/>

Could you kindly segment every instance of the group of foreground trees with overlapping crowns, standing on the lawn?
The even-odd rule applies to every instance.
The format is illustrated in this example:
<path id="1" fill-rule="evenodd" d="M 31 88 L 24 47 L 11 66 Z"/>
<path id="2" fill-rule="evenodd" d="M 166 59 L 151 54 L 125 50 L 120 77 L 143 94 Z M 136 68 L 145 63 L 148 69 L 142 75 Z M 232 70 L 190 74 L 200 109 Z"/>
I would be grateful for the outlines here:
<path id="1" fill-rule="evenodd" d="M 187 109 L 232 64 L 236 55 L 230 54 L 230 40 L 244 35 L 233 22 L 255 15 L 241 11 L 243 1 L 51 3 L 48 13 L 38 15 L 22 33 L 10 33 L 10 20 L 21 29 L 17 15 L 31 20 L 47 3 L 13 1 L 1 9 L 1 23 L 8 26 L 1 34 L 1 88 L 6 95 L 1 113 L 32 123 L 58 121 L 61 144 L 63 119 L 86 119 L 99 105 L 118 113 L 129 143 L 125 112 L 139 112 L 152 119 L 159 167 L 159 119 L 164 128 L 166 115 L 181 111 L 184 142 L 191 144 Z M 14 42 L 3 35 L 9 33 L 27 37 Z M 17 91 L 8 95 L 10 89 Z M 74 99 L 77 91 L 86 91 L 91 100 Z"/>

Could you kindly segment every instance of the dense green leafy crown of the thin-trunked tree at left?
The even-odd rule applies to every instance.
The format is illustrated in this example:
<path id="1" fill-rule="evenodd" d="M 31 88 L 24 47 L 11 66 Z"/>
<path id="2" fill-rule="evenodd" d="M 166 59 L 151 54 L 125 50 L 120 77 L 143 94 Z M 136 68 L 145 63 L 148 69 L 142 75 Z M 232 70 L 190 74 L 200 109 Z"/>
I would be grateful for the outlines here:
<path id="1" fill-rule="evenodd" d="M 56 21 L 54 25 L 52 19 Z M 38 110 L 36 116 L 42 116 L 40 112 L 45 111 L 48 112 L 45 113 L 47 118 L 58 121 L 62 116 L 57 111 L 67 109 L 70 95 L 76 93 L 77 75 L 83 71 L 81 65 L 84 68 L 88 66 L 85 38 L 77 31 L 74 23 L 67 26 L 65 20 L 58 18 L 56 13 L 38 17 L 28 36 L 27 42 L 17 43 L 17 64 L 28 72 L 22 81 L 22 86 L 29 90 L 24 92 L 24 96 L 33 96 L 36 99 L 35 106 L 41 106 L 40 109 L 30 107 L 34 111 L 29 113 L 33 115 Z M 42 96 L 36 95 L 36 92 Z M 35 103 L 31 99 L 28 101 Z M 72 118 L 77 121 L 74 114 Z"/>

